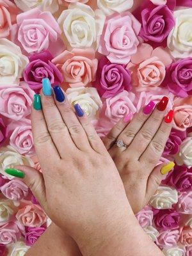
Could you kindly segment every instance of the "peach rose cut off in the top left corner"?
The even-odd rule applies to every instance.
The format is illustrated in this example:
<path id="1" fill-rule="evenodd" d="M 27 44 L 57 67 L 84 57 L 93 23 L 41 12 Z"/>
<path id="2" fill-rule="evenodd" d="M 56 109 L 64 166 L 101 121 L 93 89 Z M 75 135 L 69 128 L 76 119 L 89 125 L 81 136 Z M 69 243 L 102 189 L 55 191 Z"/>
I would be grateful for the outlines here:
<path id="1" fill-rule="evenodd" d="M 0 38 L 10 35 L 12 24 L 16 21 L 19 9 L 10 0 L 0 0 Z"/>

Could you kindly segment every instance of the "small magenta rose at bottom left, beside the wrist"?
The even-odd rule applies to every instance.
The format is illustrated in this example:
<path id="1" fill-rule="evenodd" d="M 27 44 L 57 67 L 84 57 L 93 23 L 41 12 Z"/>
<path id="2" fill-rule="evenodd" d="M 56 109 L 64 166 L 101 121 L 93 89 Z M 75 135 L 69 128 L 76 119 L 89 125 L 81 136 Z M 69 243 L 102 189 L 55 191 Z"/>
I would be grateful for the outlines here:
<path id="1" fill-rule="evenodd" d="M 25 242 L 26 245 L 32 246 L 35 244 L 37 239 L 44 234 L 45 228 L 44 227 L 28 227 L 26 228 L 26 234 L 25 234 Z"/>

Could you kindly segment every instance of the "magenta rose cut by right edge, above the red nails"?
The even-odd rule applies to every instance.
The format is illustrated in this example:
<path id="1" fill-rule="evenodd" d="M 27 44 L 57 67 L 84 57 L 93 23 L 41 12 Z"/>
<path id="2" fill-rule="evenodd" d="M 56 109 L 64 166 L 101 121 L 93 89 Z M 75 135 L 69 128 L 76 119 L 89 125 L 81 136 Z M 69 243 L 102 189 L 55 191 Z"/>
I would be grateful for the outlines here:
<path id="1" fill-rule="evenodd" d="M 163 84 L 179 97 L 192 95 L 192 57 L 178 60 L 166 67 Z"/>

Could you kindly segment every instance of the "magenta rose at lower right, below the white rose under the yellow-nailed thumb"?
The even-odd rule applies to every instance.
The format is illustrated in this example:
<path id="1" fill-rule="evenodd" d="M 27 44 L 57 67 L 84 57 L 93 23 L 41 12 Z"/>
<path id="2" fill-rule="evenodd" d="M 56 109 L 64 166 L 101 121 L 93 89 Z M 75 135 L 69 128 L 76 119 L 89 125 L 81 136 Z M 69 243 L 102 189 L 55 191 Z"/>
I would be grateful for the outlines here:
<path id="1" fill-rule="evenodd" d="M 157 228 L 168 230 L 177 228 L 180 220 L 180 214 L 173 209 L 159 210 L 154 215 L 154 223 Z"/>

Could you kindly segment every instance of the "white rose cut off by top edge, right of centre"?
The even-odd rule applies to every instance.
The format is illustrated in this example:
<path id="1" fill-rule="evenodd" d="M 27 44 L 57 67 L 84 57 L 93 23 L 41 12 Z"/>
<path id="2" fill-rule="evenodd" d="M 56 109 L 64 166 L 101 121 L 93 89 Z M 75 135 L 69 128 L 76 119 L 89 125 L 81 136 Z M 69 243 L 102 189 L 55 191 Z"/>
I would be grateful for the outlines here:
<path id="1" fill-rule="evenodd" d="M 106 15 L 111 15 L 114 12 L 122 13 L 131 9 L 133 0 L 97 0 L 97 6 Z"/>

